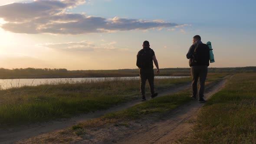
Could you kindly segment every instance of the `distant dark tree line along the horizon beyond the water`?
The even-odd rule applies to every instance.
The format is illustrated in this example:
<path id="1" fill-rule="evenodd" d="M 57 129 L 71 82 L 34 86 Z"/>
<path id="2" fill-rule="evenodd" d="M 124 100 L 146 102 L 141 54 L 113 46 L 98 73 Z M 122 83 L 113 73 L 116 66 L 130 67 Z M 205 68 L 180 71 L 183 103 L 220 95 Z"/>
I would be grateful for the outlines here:
<path id="1" fill-rule="evenodd" d="M 161 75 L 184 76 L 190 75 L 190 68 L 160 69 Z M 235 68 L 209 68 L 210 73 L 254 73 L 256 66 Z M 78 77 L 121 77 L 138 76 L 138 69 L 113 70 L 67 70 L 67 69 L 4 69 L 0 68 L 0 79 L 38 79 L 38 78 L 78 78 Z"/>

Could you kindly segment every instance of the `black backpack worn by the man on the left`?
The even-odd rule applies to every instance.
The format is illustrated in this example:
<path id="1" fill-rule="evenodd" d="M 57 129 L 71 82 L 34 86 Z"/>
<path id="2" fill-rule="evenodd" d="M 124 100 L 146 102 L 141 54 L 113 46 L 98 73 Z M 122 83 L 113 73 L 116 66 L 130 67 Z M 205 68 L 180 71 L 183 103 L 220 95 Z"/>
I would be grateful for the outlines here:
<path id="1" fill-rule="evenodd" d="M 137 56 L 137 66 L 141 69 L 153 69 L 153 50 L 141 49 Z"/>

